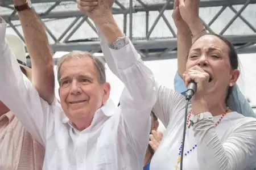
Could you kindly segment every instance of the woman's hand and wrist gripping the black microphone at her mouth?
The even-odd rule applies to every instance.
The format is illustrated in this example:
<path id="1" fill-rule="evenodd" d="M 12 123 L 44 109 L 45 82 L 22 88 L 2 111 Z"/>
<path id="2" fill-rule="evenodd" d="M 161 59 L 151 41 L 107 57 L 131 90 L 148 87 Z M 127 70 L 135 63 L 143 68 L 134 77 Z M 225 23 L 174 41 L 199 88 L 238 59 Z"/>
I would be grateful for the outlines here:
<path id="1" fill-rule="evenodd" d="M 191 101 L 193 114 L 208 112 L 209 110 L 207 99 L 205 97 L 207 93 L 207 84 L 209 83 L 209 78 L 209 74 L 199 66 L 193 66 L 183 74 L 183 79 L 186 86 L 188 86 L 188 83 L 191 82 L 191 80 L 194 80 L 197 84 L 197 91 L 192 97 Z"/>

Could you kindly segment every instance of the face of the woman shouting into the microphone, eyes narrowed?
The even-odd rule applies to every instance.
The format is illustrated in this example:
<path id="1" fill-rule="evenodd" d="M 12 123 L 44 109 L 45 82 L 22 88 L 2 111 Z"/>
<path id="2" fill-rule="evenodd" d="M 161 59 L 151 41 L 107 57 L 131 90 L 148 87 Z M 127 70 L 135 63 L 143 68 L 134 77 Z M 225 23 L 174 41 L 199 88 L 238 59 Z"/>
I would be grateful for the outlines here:
<path id="1" fill-rule="evenodd" d="M 233 86 L 240 75 L 239 70 L 230 66 L 228 45 L 214 35 L 204 35 L 192 45 L 186 71 L 196 65 L 209 74 L 207 94 L 217 100 L 226 97 L 228 87 Z"/>

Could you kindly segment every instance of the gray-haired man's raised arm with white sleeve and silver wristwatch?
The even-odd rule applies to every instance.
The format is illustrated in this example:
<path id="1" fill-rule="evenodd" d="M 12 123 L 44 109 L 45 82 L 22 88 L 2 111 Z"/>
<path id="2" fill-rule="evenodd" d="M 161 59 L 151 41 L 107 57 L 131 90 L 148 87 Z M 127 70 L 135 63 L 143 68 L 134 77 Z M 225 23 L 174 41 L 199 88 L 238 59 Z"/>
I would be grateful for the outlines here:
<path id="1" fill-rule="evenodd" d="M 121 130 L 137 151 L 144 154 L 150 134 L 150 113 L 155 103 L 154 76 L 115 23 L 112 5 L 113 1 L 98 0 L 92 12 L 85 12 L 101 32 L 102 50 L 110 70 L 125 84 L 120 101 Z M 83 7 L 79 8 L 84 11 Z"/>

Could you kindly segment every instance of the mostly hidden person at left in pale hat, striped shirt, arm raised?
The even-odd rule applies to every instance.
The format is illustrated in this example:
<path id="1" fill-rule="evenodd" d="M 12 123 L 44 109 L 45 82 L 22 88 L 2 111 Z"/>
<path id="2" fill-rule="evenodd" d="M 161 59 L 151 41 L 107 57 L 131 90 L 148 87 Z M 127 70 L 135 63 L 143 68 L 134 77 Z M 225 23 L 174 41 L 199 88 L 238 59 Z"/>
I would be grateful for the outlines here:
<path id="1" fill-rule="evenodd" d="M 16 6 L 17 10 L 19 9 L 20 2 L 22 1 L 14 1 L 14 4 L 18 5 L 18 7 Z M 48 41 L 46 31 L 34 11 L 27 8 L 26 10 L 18 11 L 18 15 L 27 42 L 27 49 L 31 56 L 32 70 L 26 66 L 26 51 L 23 41 L 14 35 L 6 35 L 6 39 L 9 42 L 11 52 L 14 53 L 19 63 L 22 73 L 28 79 L 33 79 L 33 84 L 36 86 L 39 94 L 40 91 L 46 88 L 49 90 L 41 94 L 42 96 L 49 96 L 46 100 L 51 103 L 52 94 L 50 93 L 54 90 L 54 86 L 52 83 L 43 83 L 49 82 L 49 75 L 53 75 L 53 61 L 49 43 L 42 43 L 42 41 Z M 3 31 L 5 25 L 5 22 L 0 18 L 0 29 L 2 31 L 0 37 L 5 36 L 5 31 Z M 40 41 L 34 42 L 33 39 L 39 39 Z M 40 46 L 40 49 L 38 46 Z M 6 48 L 6 46 L 2 46 L 2 48 Z M 42 57 L 46 58 L 46 60 L 42 61 L 40 59 Z M 46 74 L 48 76 L 35 78 L 38 74 Z M 43 167 L 44 147 L 24 129 L 18 118 L 14 116 L 2 101 L 0 101 L 0 151 L 0 169 L 40 170 Z"/>

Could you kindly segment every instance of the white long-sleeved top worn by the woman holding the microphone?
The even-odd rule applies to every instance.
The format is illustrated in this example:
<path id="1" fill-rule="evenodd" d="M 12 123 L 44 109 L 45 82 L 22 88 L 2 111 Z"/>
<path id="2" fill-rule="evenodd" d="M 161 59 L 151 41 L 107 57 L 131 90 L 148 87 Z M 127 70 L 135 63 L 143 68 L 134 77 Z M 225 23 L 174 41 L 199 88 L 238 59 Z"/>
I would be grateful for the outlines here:
<path id="1" fill-rule="evenodd" d="M 154 113 L 167 127 L 156 150 L 150 170 L 175 170 L 183 135 L 185 97 L 163 86 L 156 86 Z M 188 111 L 191 110 L 191 105 Z M 237 112 L 221 116 L 205 112 L 204 119 L 187 129 L 183 169 L 242 170 L 256 163 L 256 119 Z M 191 114 L 191 120 L 193 114 Z M 197 146 L 195 146 L 197 145 Z M 193 148 L 194 147 L 194 148 Z M 180 163 L 178 168 L 180 169 Z"/>

